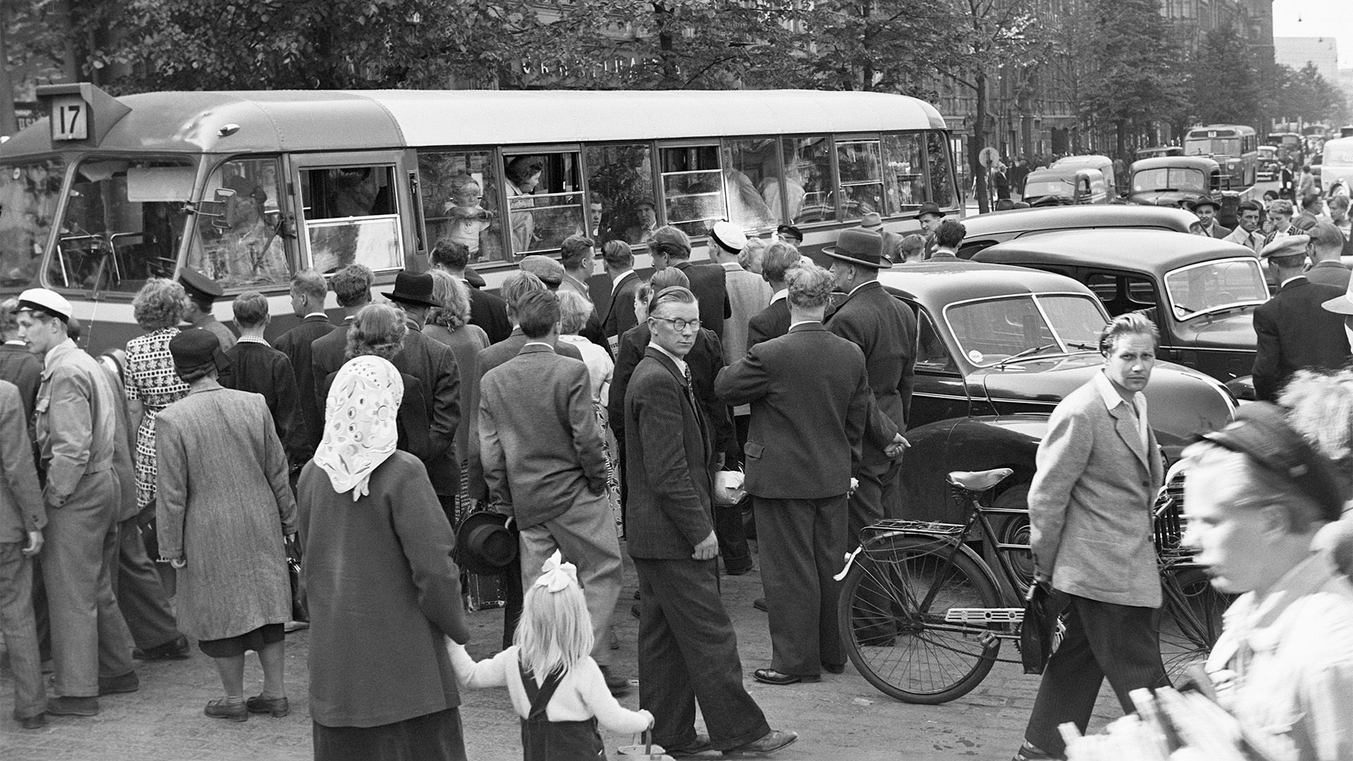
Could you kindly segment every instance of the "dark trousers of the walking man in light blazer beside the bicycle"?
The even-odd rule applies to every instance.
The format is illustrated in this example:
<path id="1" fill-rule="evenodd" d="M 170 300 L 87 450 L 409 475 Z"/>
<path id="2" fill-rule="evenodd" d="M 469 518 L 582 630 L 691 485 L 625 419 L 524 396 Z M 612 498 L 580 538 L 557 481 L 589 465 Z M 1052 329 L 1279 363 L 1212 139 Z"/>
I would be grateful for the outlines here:
<path id="1" fill-rule="evenodd" d="M 1043 669 L 1024 739 L 1062 756 L 1057 727 L 1073 722 L 1082 733 L 1108 677 L 1124 714 L 1134 711 L 1134 689 L 1168 687 L 1161 664 L 1160 609 L 1100 603 L 1070 596 L 1066 636 Z"/>

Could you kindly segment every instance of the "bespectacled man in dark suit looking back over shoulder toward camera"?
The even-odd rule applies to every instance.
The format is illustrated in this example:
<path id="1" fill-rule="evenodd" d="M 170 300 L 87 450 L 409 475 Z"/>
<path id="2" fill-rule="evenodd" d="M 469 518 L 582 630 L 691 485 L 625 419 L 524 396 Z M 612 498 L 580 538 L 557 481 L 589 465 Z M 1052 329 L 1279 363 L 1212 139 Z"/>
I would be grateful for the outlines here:
<path id="1" fill-rule="evenodd" d="M 663 288 L 648 314 L 652 343 L 625 395 L 630 473 L 625 536 L 639 573 L 639 704 L 672 754 L 769 753 L 797 735 L 771 730 L 743 687 L 737 638 L 718 600 L 709 429 L 687 379 L 700 305 Z M 695 703 L 709 735 L 695 734 Z"/>

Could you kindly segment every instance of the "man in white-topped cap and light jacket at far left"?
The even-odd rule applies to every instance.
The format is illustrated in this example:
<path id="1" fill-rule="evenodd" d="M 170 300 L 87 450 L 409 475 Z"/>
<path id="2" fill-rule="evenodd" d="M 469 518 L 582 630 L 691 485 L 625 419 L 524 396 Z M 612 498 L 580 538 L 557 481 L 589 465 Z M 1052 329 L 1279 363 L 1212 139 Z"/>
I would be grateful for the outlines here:
<path id="1" fill-rule="evenodd" d="M 114 474 L 118 399 L 103 368 L 66 337 L 70 302 L 47 288 L 19 295 L 19 337 L 42 357 L 34 413 L 46 471 L 41 570 L 55 666 L 47 712 L 93 716 L 99 695 L 137 689 L 131 634 L 112 594 L 120 486 Z M 111 550 L 111 552 L 108 552 Z"/>

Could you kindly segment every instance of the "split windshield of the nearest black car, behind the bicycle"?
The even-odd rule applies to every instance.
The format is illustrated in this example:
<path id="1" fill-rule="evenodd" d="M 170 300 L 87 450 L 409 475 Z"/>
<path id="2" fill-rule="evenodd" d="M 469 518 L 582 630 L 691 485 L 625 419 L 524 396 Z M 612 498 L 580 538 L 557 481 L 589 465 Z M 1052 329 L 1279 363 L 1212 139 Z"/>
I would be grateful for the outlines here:
<path id="1" fill-rule="evenodd" d="M 1093 348 L 1108 321 L 1081 294 L 1022 294 L 950 305 L 948 328 L 967 362 L 985 367 L 1015 355 L 1047 356 Z"/>

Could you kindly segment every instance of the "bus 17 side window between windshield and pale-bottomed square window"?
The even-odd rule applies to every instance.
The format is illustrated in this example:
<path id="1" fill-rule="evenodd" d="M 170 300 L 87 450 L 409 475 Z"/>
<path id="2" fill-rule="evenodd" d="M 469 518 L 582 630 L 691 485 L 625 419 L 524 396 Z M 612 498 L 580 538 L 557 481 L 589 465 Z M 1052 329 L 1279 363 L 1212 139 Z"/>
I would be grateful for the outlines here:
<path id="1" fill-rule="evenodd" d="M 277 158 L 235 158 L 216 167 L 204 200 L 219 200 L 221 215 L 199 214 L 188 267 L 222 287 L 279 286 L 291 280 L 292 259 L 281 234 Z"/>

